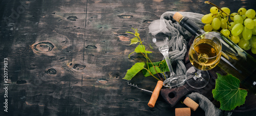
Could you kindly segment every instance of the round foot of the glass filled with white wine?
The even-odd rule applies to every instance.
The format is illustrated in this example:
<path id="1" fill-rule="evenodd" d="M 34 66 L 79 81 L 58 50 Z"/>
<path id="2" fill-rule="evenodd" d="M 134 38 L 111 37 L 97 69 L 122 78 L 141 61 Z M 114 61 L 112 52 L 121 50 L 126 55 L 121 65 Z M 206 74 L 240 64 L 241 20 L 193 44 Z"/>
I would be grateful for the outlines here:
<path id="1" fill-rule="evenodd" d="M 187 69 L 187 84 L 193 88 L 203 88 L 209 83 L 210 76 L 207 71 L 201 71 L 197 76 L 198 69 L 194 66 Z"/>

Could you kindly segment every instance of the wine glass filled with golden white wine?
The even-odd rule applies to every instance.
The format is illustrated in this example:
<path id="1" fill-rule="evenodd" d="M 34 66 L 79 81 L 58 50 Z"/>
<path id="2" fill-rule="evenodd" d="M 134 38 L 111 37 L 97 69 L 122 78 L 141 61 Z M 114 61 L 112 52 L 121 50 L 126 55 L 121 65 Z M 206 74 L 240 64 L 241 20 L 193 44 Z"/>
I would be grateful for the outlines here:
<path id="1" fill-rule="evenodd" d="M 221 41 L 212 34 L 198 35 L 189 49 L 192 67 L 187 69 L 187 84 L 193 88 L 203 88 L 209 82 L 207 70 L 214 68 L 221 58 Z"/>

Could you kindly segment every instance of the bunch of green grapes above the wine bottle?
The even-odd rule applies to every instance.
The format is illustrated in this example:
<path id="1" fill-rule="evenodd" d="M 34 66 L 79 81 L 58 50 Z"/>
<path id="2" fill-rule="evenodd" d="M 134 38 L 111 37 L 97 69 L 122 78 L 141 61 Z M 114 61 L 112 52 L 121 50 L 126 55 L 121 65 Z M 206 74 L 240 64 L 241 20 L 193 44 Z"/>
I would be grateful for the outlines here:
<path id="1" fill-rule="evenodd" d="M 220 31 L 224 36 L 237 43 L 240 48 L 256 54 L 256 17 L 255 10 L 240 8 L 230 14 L 227 7 L 211 7 L 210 13 L 202 17 L 204 31 Z"/>

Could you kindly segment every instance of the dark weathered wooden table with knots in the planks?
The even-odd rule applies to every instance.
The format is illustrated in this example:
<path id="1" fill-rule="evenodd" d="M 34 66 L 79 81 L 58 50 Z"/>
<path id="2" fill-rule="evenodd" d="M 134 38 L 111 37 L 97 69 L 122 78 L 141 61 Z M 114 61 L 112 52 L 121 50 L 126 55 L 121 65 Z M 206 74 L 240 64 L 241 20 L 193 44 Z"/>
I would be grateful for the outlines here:
<path id="1" fill-rule="evenodd" d="M 253 0 L 211 2 L 231 12 L 256 5 Z M 0 115 L 175 115 L 175 107 L 183 104 L 170 107 L 160 97 L 150 108 L 151 94 L 122 79 L 141 60 L 137 54 L 128 58 L 134 36 L 125 32 L 136 28 L 143 36 L 148 22 L 166 11 L 206 14 L 210 7 L 196 0 L 2 0 Z M 153 55 L 158 56 L 152 57 L 155 61 L 162 59 L 160 53 Z M 157 80 L 139 74 L 130 82 L 153 91 Z M 8 112 L 3 107 L 6 99 Z"/>

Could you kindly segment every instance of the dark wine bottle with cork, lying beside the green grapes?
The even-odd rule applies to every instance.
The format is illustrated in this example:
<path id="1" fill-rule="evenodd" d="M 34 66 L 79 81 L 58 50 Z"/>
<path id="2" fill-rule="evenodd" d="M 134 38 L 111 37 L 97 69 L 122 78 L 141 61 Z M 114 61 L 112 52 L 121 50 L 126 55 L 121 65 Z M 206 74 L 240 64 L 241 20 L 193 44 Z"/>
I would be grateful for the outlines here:
<path id="1" fill-rule="evenodd" d="M 210 33 L 218 37 L 222 42 L 222 51 L 221 60 L 217 66 L 225 73 L 237 77 L 242 87 L 256 94 L 256 60 L 251 55 L 221 33 L 215 31 L 205 32 L 179 12 L 175 13 L 173 18 L 179 22 L 181 27 L 185 28 L 194 36 L 202 33 Z"/>

